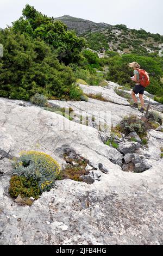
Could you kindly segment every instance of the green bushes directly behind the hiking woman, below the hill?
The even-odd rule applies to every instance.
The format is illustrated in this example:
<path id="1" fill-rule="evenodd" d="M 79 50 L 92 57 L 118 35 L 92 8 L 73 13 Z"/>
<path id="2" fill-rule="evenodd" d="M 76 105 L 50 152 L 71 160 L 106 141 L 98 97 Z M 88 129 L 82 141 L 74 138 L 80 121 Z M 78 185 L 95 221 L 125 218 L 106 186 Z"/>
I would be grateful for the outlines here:
<path id="1" fill-rule="evenodd" d="M 161 57 L 139 56 L 136 54 L 123 54 L 123 56 L 114 56 L 104 58 L 103 62 L 108 65 L 108 73 L 106 80 L 110 80 L 121 84 L 130 84 L 134 86 L 134 82 L 130 77 L 133 76 L 133 70 L 128 68 L 129 62 L 138 62 L 142 69 L 145 69 L 151 78 L 151 84 L 146 88 L 147 92 L 154 95 L 163 94 L 163 84 L 160 78 L 163 75 L 163 59 Z"/>

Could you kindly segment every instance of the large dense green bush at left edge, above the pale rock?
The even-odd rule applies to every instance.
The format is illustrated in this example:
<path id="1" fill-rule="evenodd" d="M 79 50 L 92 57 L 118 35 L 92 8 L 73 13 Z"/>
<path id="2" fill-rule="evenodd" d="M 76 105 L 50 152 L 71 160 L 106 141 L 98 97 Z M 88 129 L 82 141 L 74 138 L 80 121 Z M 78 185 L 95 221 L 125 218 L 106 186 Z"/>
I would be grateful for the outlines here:
<path id="1" fill-rule="evenodd" d="M 41 39 L 0 31 L 3 58 L 0 59 L 0 96 L 29 100 L 36 93 L 46 96 L 69 95 L 75 81 L 72 70 L 59 63 Z"/>

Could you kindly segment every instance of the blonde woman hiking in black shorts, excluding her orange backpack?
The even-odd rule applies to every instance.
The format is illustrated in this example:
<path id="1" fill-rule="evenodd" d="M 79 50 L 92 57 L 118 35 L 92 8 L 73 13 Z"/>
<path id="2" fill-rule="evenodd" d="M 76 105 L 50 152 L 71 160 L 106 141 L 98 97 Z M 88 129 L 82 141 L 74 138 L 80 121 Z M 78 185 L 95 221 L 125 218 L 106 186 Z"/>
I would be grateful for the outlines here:
<path id="1" fill-rule="evenodd" d="M 141 111 L 141 113 L 143 113 L 144 110 L 145 110 L 145 102 L 143 100 L 143 94 L 145 92 L 145 87 L 141 86 L 141 84 L 139 82 L 140 81 L 140 74 L 139 74 L 140 65 L 137 62 L 132 62 L 132 63 L 129 63 L 129 68 L 134 69 L 134 77 L 131 77 L 131 80 L 136 83 L 135 87 L 133 89 L 133 92 L 131 94 L 131 96 L 132 96 L 132 98 L 135 102 L 133 107 L 139 108 L 138 103 L 137 103 L 137 99 L 136 99 L 136 96 L 135 96 L 135 94 L 137 95 L 139 93 L 139 99 L 140 99 L 140 102 L 141 102 L 140 111 Z"/>

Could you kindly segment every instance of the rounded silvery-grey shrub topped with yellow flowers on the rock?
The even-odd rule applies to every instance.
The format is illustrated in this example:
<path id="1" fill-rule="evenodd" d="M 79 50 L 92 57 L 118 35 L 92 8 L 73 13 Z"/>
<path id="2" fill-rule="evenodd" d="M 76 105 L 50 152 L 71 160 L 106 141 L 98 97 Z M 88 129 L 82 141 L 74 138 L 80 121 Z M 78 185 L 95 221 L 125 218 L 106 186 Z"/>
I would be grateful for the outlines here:
<path id="1" fill-rule="evenodd" d="M 13 162 L 13 174 L 38 183 L 41 192 L 49 191 L 60 173 L 60 166 L 51 156 L 38 151 L 23 151 Z"/>

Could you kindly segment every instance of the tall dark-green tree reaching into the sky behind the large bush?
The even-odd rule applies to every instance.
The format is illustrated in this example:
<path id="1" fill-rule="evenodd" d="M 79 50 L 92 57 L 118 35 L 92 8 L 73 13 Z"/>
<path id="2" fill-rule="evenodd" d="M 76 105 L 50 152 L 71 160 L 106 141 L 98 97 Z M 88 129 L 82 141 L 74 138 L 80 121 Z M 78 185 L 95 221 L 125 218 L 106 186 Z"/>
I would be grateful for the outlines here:
<path id="1" fill-rule="evenodd" d="M 86 46 L 84 38 L 78 37 L 75 32 L 67 31 L 67 27 L 60 21 L 47 17 L 30 5 L 23 9 L 23 17 L 12 23 L 15 33 L 40 37 L 57 53 L 57 57 L 66 65 L 78 62 L 80 52 Z"/>

